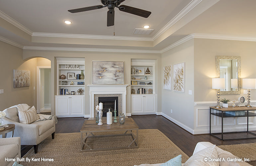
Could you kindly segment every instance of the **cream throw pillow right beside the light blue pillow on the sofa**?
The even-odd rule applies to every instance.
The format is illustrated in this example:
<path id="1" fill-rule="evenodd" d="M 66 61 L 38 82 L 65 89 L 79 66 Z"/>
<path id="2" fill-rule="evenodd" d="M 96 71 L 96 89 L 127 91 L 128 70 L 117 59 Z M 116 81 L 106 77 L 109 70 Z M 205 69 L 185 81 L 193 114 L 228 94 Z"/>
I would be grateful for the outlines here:
<path id="1" fill-rule="evenodd" d="M 210 146 L 191 156 L 183 166 L 219 166 L 216 145 Z M 214 160 L 215 159 L 215 160 Z"/>

